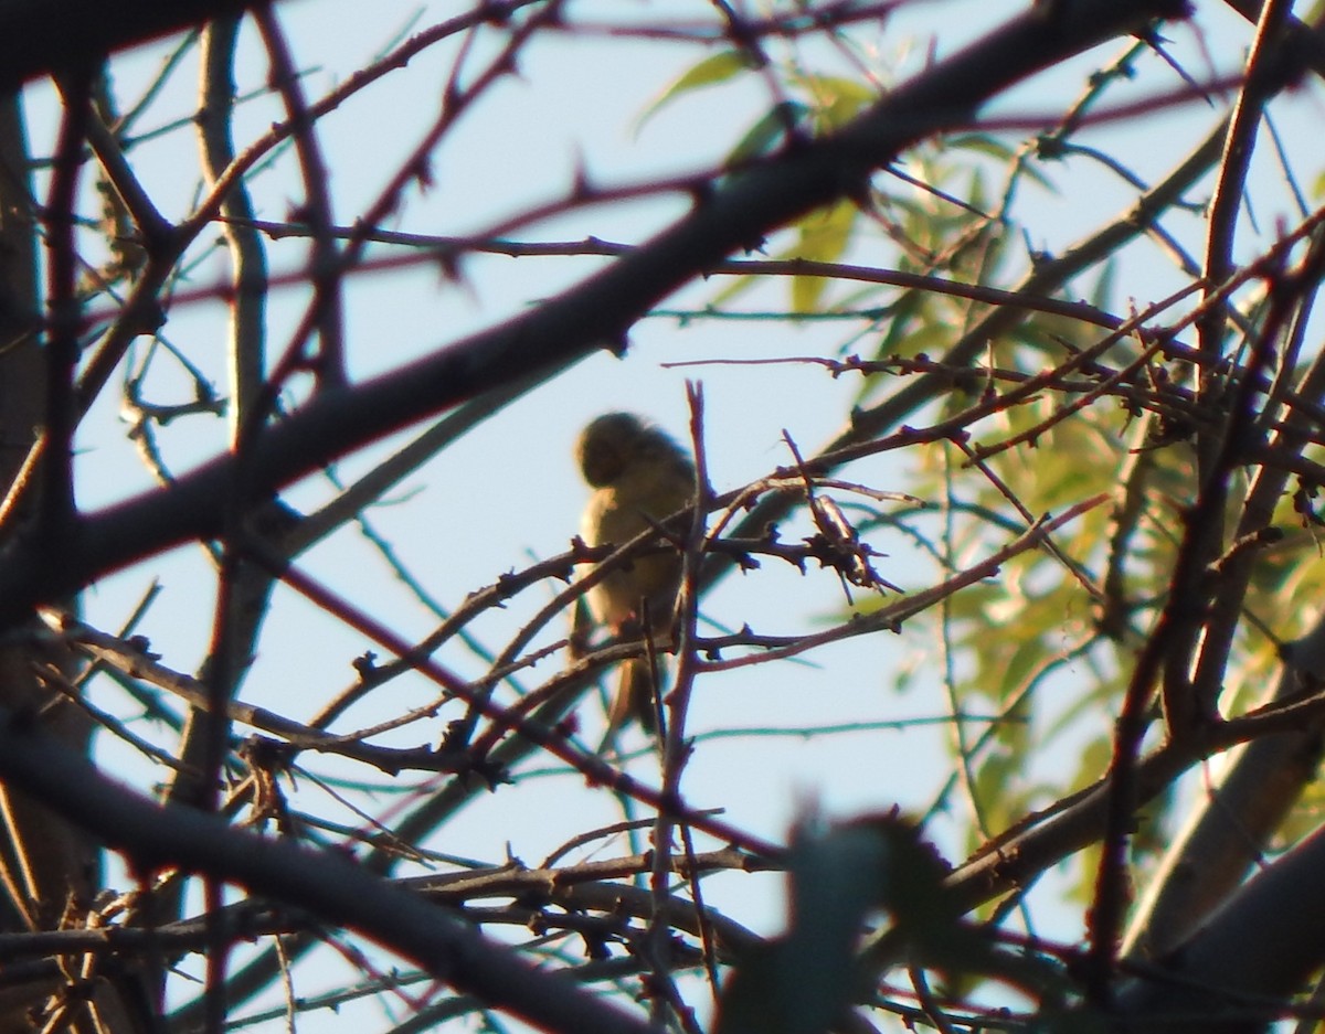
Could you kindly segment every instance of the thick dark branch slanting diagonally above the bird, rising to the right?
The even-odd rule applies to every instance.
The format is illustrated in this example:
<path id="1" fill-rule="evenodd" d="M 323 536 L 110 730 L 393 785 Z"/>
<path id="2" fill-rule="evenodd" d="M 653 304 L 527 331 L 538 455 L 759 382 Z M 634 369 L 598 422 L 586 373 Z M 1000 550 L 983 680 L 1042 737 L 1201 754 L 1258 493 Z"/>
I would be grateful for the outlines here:
<path id="1" fill-rule="evenodd" d="M 42 569 L 20 539 L 0 567 L 0 620 L 171 545 L 219 535 L 216 503 L 240 483 L 276 491 L 465 399 L 514 377 L 550 375 L 621 342 L 636 319 L 705 269 L 815 208 L 864 193 L 872 169 L 934 132 L 969 123 L 1003 89 L 1154 17 L 1183 13 L 1175 0 L 1037 4 L 900 86 L 843 131 L 757 163 L 712 195 L 696 184 L 701 197 L 690 214 L 578 287 L 394 373 L 321 393 L 264 433 L 244 457 L 242 482 L 236 461 L 219 457 L 171 487 L 85 519 L 60 571 Z"/>

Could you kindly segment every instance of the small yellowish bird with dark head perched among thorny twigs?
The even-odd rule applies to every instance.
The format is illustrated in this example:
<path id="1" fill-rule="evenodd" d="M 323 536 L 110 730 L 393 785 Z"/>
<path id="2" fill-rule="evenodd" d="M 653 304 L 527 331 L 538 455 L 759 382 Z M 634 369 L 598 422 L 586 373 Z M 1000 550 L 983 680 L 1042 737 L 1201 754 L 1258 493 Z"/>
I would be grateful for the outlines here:
<path id="1" fill-rule="evenodd" d="M 624 545 L 666 520 L 694 499 L 694 465 L 674 441 L 632 413 L 606 413 L 591 421 L 575 445 L 584 481 L 594 489 L 580 536 L 590 545 Z M 649 632 L 670 635 L 681 555 L 653 553 L 617 568 L 586 593 L 594 620 L 613 635 Z M 621 679 L 608 714 L 608 728 L 639 719 L 652 732 L 653 675 L 647 657 L 621 665 Z"/>

